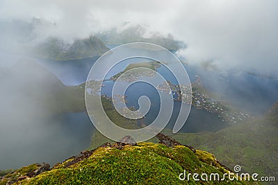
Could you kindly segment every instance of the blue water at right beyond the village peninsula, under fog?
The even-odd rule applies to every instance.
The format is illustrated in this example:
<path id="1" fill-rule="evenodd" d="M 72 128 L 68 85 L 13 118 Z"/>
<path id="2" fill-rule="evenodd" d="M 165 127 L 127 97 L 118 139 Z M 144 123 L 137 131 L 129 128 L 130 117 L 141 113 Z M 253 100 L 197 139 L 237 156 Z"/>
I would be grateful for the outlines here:
<path id="1" fill-rule="evenodd" d="M 264 114 L 278 100 L 277 79 L 254 76 L 242 68 L 210 71 L 188 65 L 186 69 L 191 81 L 194 74 L 199 74 L 204 88 L 253 116 Z"/>

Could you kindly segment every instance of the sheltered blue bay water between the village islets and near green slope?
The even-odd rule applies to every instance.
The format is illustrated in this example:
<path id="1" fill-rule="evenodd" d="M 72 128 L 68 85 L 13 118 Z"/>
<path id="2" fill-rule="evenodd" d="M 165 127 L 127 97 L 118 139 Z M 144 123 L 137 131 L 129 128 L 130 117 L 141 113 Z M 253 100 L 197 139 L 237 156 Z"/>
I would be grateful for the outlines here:
<path id="1" fill-rule="evenodd" d="M 158 71 L 165 71 L 166 80 L 171 80 L 172 82 L 176 82 L 174 76 L 165 69 L 165 67 L 160 67 Z M 164 75 L 164 74 L 163 74 Z M 108 76 L 111 76 L 108 73 Z M 114 82 L 108 80 L 103 83 L 104 87 L 101 88 L 101 94 L 105 94 L 106 96 L 111 96 L 111 92 L 113 89 Z M 159 98 L 157 89 L 152 87 L 145 82 L 136 82 L 129 86 L 125 92 L 126 96 L 126 106 L 127 107 L 135 107 L 139 108 L 138 99 L 140 96 L 147 96 L 151 101 L 151 107 L 149 112 L 145 115 L 143 119 L 145 125 L 149 125 L 154 121 L 156 116 L 158 116 L 158 112 L 160 111 L 161 99 Z M 173 100 L 174 101 L 174 100 Z M 180 101 L 174 101 L 174 109 L 172 110 L 172 117 L 167 125 L 170 129 L 174 126 L 174 123 L 177 120 L 177 116 L 179 115 L 181 107 Z M 215 132 L 224 127 L 227 127 L 228 123 L 222 121 L 222 118 L 218 117 L 215 114 L 211 114 L 205 110 L 196 109 L 195 107 L 191 107 L 190 115 L 188 116 L 188 120 L 186 124 L 182 127 L 180 132 Z"/>

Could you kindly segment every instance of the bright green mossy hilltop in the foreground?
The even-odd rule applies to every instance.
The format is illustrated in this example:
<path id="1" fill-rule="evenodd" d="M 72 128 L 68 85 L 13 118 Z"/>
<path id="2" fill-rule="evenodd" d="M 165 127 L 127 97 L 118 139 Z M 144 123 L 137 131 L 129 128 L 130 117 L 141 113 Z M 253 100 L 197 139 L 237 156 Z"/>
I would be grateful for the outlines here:
<path id="1" fill-rule="evenodd" d="M 244 184 L 244 182 L 204 182 L 191 178 L 181 181 L 179 174 L 223 173 L 228 170 L 208 152 L 187 146 L 169 148 L 164 144 L 117 143 L 103 146 L 56 164 L 51 170 L 27 177 L 15 184 Z"/>

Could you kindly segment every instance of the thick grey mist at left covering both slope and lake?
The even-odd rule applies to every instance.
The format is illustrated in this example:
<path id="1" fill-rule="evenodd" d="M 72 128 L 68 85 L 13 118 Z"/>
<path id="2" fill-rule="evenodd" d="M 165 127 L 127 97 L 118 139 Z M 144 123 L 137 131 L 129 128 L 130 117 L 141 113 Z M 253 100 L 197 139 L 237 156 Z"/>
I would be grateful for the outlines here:
<path id="1" fill-rule="evenodd" d="M 0 169 L 53 165 L 88 148 L 94 127 L 87 112 L 59 113 L 58 104 L 49 109 L 63 83 L 30 58 L 6 60 L 10 65 L 0 68 Z"/>

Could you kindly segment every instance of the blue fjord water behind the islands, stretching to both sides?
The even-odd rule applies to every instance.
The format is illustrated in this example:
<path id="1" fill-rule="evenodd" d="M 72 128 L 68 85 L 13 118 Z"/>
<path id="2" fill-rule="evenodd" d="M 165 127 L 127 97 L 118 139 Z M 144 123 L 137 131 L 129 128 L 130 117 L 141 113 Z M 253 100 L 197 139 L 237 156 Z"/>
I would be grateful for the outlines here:
<path id="1" fill-rule="evenodd" d="M 38 60 L 38 62 L 54 73 L 65 85 L 79 85 L 85 82 L 96 60 L 97 57 L 70 61 Z M 131 61 L 111 69 L 111 74 L 108 74 L 107 78 L 124 69 L 129 63 Z M 254 115 L 263 114 L 278 100 L 277 79 L 252 76 L 240 68 L 213 71 L 192 64 L 186 65 L 185 68 L 191 82 L 195 80 L 196 75 L 201 76 L 206 89 L 222 95 L 236 107 Z M 177 84 L 174 76 L 165 68 L 158 68 L 157 71 L 163 73 L 173 84 Z"/>

